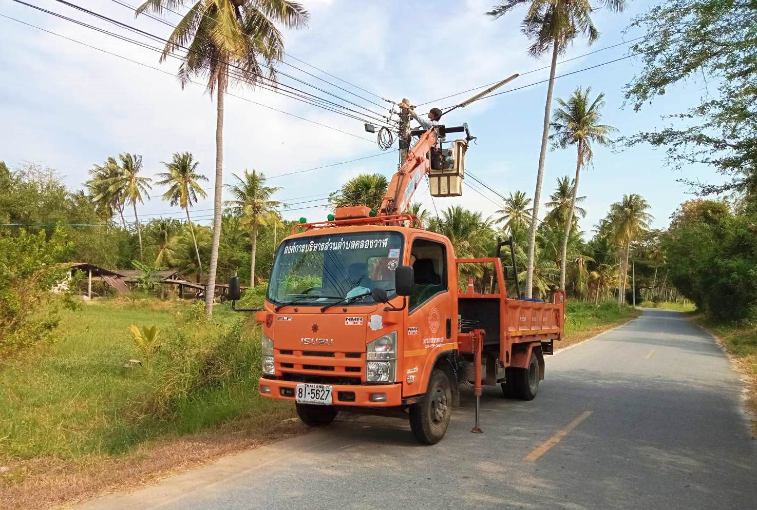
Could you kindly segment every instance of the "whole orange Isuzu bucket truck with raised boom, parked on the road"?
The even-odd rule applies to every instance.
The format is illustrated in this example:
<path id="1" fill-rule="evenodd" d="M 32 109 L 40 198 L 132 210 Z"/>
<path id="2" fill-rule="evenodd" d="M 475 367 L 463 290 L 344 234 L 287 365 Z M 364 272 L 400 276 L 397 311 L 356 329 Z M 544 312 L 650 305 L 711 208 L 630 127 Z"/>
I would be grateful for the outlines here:
<path id="1" fill-rule="evenodd" d="M 450 164 L 440 132 L 463 131 Z M 259 390 L 294 402 L 313 427 L 340 410 L 394 415 L 410 420 L 417 440 L 433 444 L 447 431 L 460 384 L 475 388 L 474 432 L 481 431 L 482 384 L 501 384 L 506 396 L 523 400 L 536 396 L 544 356 L 564 331 L 565 294 L 511 297 L 499 257 L 457 259 L 448 238 L 402 213 L 425 176 L 435 179 L 436 196 L 462 192 L 472 139 L 465 125 L 413 134 L 419 141 L 380 210 L 343 207 L 325 222 L 296 225 L 279 245 L 265 305 L 255 310 L 262 324 Z M 232 277 L 229 298 L 239 297 Z"/>

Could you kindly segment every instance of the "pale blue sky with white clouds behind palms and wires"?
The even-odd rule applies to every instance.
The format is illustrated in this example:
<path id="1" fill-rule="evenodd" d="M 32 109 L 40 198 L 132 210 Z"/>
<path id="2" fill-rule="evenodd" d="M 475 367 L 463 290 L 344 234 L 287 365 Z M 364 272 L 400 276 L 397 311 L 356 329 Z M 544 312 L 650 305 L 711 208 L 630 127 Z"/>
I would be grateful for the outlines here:
<path id="1" fill-rule="evenodd" d="M 166 37 L 171 30 L 170 26 L 148 17 L 135 19 L 133 11 L 114 1 L 74 1 L 160 37 Z M 120 2 L 136 5 L 137 0 Z M 302 2 L 310 11 L 310 23 L 304 30 L 284 30 L 288 54 L 284 61 L 319 79 L 286 64 L 279 64 L 279 70 L 381 114 L 387 114 L 391 104 L 379 97 L 397 102 L 409 98 L 413 104 L 422 104 L 549 64 L 549 55 L 536 60 L 526 52 L 528 42 L 519 31 L 524 11 L 492 20 L 484 13 L 493 0 L 440 1 L 434 2 L 433 8 L 427 2 L 393 0 Z M 55 0 L 29 0 L 29 3 L 149 42 Z M 642 35 L 639 30 L 624 33 L 625 27 L 635 15 L 655 3 L 630 2 L 621 14 L 598 9 L 593 20 L 602 32 L 600 40 L 591 47 L 578 40 L 560 60 Z M 0 14 L 6 16 L 0 17 L 3 120 L 0 160 L 11 168 L 24 163 L 48 166 L 63 176 L 70 188 L 76 189 L 82 188 L 93 165 L 121 152 L 141 154 L 145 175 L 153 175 L 164 171 L 162 162 L 170 160 L 174 152 L 191 151 L 200 162 L 199 171 L 212 181 L 216 104 L 201 78 L 197 84 L 182 89 L 174 76 L 178 61 L 168 59 L 161 64 L 159 55 L 153 51 L 11 0 L 0 3 Z M 179 17 L 170 14 L 166 20 L 175 24 Z M 623 57 L 630 46 L 620 45 L 560 64 L 557 74 Z M 687 82 L 634 112 L 631 105 L 624 105 L 623 89 L 640 69 L 638 58 L 630 58 L 565 76 L 556 79 L 554 97 L 568 98 L 577 86 L 590 86 L 593 94 L 604 92 L 603 122 L 615 126 L 620 135 L 631 135 L 666 126 L 668 121 L 663 116 L 693 106 L 703 93 L 703 84 Z M 548 76 L 548 69 L 529 73 L 501 90 L 527 86 Z M 340 102 L 326 92 L 285 76 L 280 79 Z M 233 86 L 229 92 L 232 95 L 226 98 L 223 180 L 235 182 L 233 174 L 241 174 L 244 169 L 263 172 L 269 185 L 282 187 L 274 199 L 291 204 L 283 212 L 287 219 L 301 216 L 310 221 L 326 219 L 329 210 L 322 204 L 330 191 L 360 173 L 377 172 L 391 177 L 397 168 L 397 152 L 382 153 L 375 135 L 364 132 L 363 120 L 333 114 L 262 89 Z M 499 194 L 507 196 L 516 190 L 525 191 L 529 197 L 534 194 L 546 92 L 546 83 L 528 86 L 485 98 L 444 117 L 447 125 L 469 124 L 472 135 L 478 138 L 466 155 L 466 170 Z M 431 102 L 425 109 L 418 107 L 418 111 L 425 112 L 431 106 L 451 106 L 473 93 Z M 354 105 L 347 106 L 365 113 Z M 649 146 L 627 150 L 597 147 L 594 153 L 593 166 L 584 169 L 580 184 L 580 194 L 587 197 L 581 204 L 587 210 L 586 218 L 581 220 L 585 235 L 590 235 L 593 225 L 623 194 L 643 195 L 652 206 L 653 226 L 665 228 L 678 204 L 692 197 L 690 190 L 676 179 L 721 182 L 712 169 L 702 166 L 674 171 L 665 166 L 664 150 Z M 380 155 L 369 157 L 376 154 Z M 363 157 L 369 158 L 281 176 Z M 575 151 L 550 151 L 542 204 L 555 188 L 557 178 L 574 173 Z M 499 197 L 485 189 L 482 196 L 469 186 L 471 182 L 466 179 L 463 196 L 433 201 L 426 186 L 420 185 L 414 200 L 421 201 L 432 213 L 459 204 L 480 210 L 484 216 L 496 216 L 495 211 L 501 208 Z M 476 182 L 472 185 L 481 188 Z M 208 198 L 194 206 L 192 214 L 198 221 L 207 222 L 210 218 L 212 186 L 210 182 L 204 183 Z M 151 200 L 139 207 L 141 219 L 182 218 L 180 211 L 172 210 L 166 201 L 160 200 L 162 191 L 159 186 L 154 187 Z M 546 212 L 542 207 L 540 216 Z"/>

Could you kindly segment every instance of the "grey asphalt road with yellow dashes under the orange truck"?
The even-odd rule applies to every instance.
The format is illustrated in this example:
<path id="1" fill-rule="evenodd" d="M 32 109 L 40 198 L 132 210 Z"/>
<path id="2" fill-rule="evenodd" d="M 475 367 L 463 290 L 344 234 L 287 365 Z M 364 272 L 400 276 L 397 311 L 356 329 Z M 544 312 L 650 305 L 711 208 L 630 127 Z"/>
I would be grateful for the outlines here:
<path id="1" fill-rule="evenodd" d="M 709 334 L 646 310 L 548 357 L 532 402 L 485 389 L 484 434 L 467 390 L 435 446 L 404 421 L 337 421 L 79 509 L 757 508 L 741 388 Z"/>

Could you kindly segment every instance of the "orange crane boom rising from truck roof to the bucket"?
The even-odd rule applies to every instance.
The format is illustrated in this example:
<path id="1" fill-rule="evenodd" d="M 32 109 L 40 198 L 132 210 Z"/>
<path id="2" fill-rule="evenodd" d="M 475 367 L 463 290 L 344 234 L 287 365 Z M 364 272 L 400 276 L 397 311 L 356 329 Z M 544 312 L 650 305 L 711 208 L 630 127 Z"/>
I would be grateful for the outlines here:
<path id="1" fill-rule="evenodd" d="M 433 126 L 423 133 L 410 151 L 407 151 L 405 161 L 400 169 L 391 176 L 391 182 L 381 203 L 379 215 L 389 216 L 403 213 L 410 204 L 416 188 L 431 170 L 431 162 L 427 154 L 436 145 L 438 128 Z"/>

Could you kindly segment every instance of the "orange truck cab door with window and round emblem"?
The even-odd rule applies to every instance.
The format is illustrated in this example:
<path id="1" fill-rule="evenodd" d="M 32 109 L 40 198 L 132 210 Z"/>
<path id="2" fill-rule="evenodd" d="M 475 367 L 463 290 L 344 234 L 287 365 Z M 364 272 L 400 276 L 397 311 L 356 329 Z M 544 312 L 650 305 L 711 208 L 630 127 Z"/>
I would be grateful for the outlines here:
<path id="1" fill-rule="evenodd" d="M 441 353 L 456 347 L 456 286 L 450 284 L 454 264 L 447 246 L 413 235 L 410 264 L 416 287 L 408 299 L 403 342 L 403 395 L 425 393 L 428 377 Z"/>

